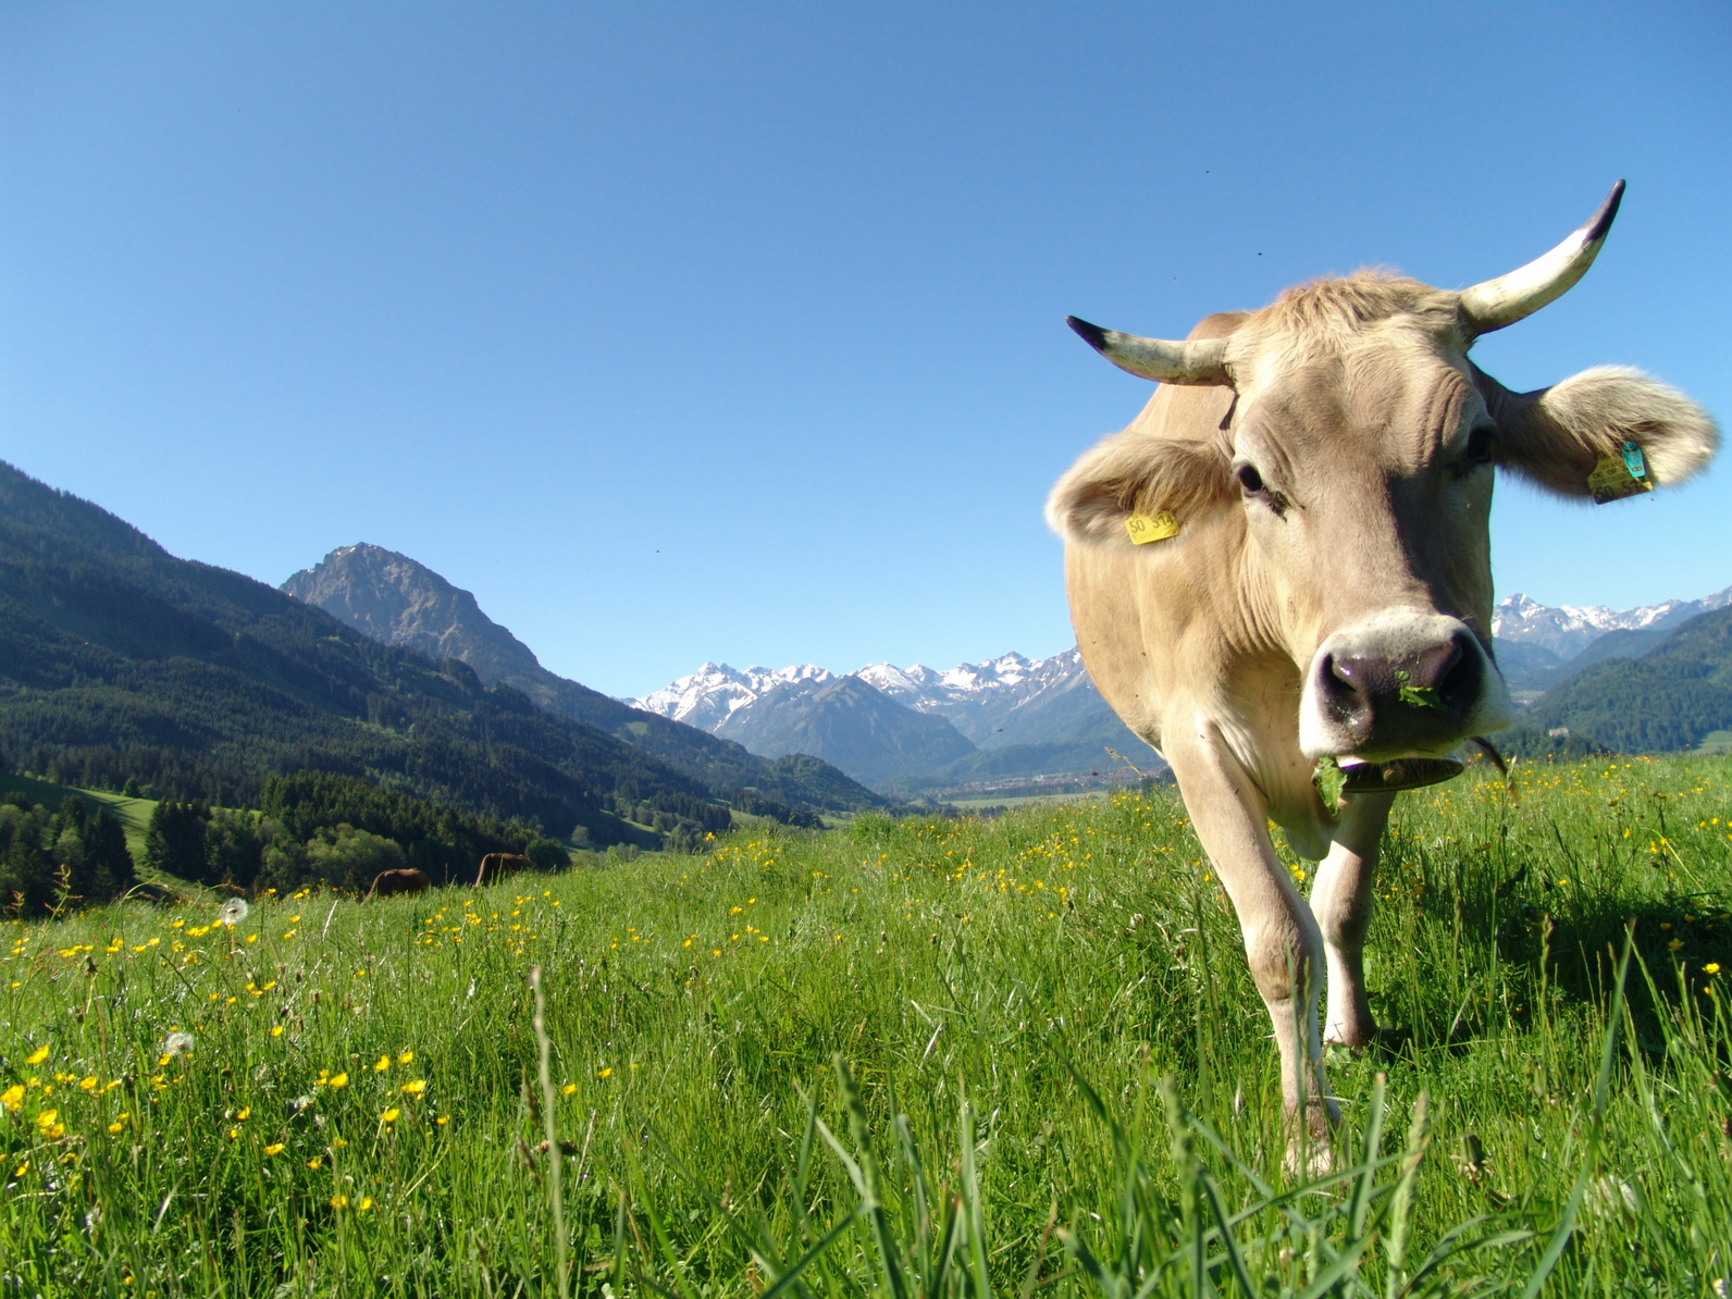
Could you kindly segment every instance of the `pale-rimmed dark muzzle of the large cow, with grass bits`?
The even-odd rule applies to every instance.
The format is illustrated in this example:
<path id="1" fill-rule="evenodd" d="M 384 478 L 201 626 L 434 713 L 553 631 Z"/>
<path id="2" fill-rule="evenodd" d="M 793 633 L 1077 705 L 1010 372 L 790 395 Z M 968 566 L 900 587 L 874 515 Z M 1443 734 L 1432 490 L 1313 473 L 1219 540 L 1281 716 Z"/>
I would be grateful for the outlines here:
<path id="1" fill-rule="evenodd" d="M 1443 755 L 1509 721 L 1509 695 L 1458 618 L 1391 611 L 1335 632 L 1306 674 L 1308 757 Z"/>

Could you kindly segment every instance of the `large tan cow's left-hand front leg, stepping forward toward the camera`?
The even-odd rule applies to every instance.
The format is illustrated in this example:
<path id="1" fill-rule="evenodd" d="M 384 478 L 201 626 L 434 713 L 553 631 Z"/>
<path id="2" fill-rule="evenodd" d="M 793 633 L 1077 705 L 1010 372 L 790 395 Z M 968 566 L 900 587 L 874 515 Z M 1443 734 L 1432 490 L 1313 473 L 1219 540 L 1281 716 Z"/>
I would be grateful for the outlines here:
<path id="1" fill-rule="evenodd" d="M 1337 1112 L 1323 1081 L 1316 1036 L 1316 994 L 1323 982 L 1316 920 L 1275 856 L 1268 802 L 1219 733 L 1202 726 L 1199 734 L 1169 743 L 1167 762 L 1197 838 L 1238 913 L 1251 977 L 1282 1055 L 1285 1112 L 1302 1114 L 1309 1136 L 1322 1143 Z"/>

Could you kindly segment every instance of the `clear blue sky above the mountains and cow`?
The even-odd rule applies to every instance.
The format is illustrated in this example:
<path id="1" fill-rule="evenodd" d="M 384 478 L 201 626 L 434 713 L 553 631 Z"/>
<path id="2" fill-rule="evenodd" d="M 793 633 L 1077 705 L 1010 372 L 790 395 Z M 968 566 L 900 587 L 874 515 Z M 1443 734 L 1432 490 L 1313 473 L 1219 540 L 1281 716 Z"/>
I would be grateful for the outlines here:
<path id="1" fill-rule="evenodd" d="M 1474 355 L 1725 421 L 1722 3 L 10 3 L 0 457 L 268 582 L 404 551 L 610 693 L 1046 655 L 1041 502 L 1148 393 L 1067 312 L 1462 286 L 1618 177 Z M 1723 587 L 1729 488 L 1505 481 L 1498 591 Z"/>

